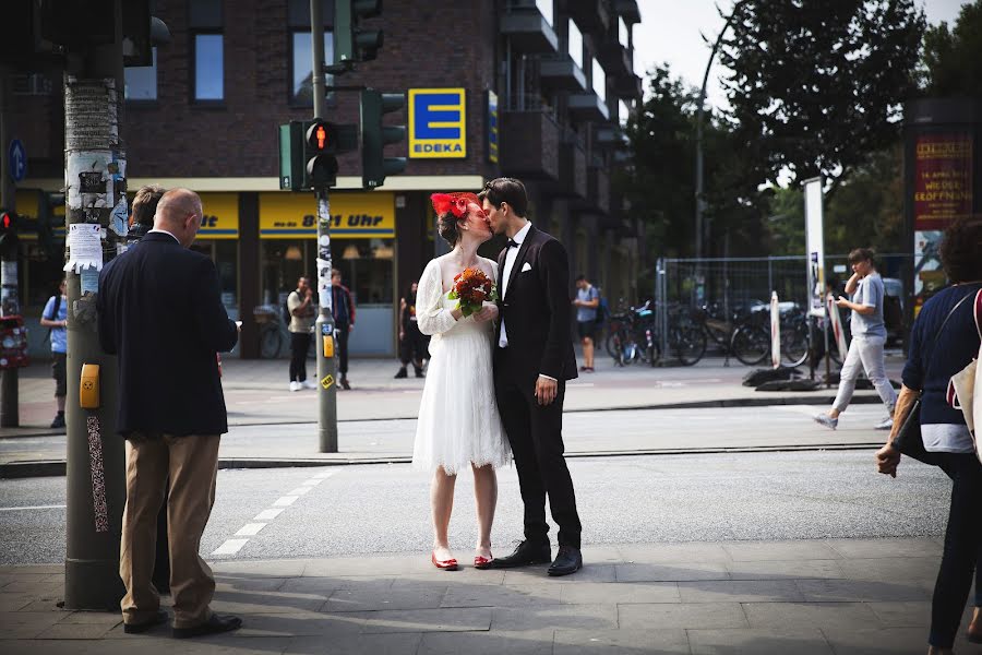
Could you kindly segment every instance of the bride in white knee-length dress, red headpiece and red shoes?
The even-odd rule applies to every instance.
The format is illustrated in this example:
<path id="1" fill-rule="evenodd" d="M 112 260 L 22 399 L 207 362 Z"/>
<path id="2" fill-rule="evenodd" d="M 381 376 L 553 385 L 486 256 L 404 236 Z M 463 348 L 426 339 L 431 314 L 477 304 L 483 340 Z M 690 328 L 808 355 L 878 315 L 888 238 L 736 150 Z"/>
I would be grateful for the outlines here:
<path id="1" fill-rule="evenodd" d="M 438 569 L 457 570 L 447 541 L 457 472 L 474 471 L 477 497 L 478 543 L 474 565 L 486 568 L 492 559 L 491 524 L 498 503 L 495 468 L 511 458 L 494 401 L 491 346 L 498 307 L 464 317 L 457 301 L 447 298 L 454 276 L 465 269 L 480 269 L 498 279 L 498 263 L 479 257 L 478 246 L 491 238 L 488 217 L 474 193 L 434 193 L 440 236 L 453 250 L 423 270 L 417 291 L 419 330 L 432 335 L 430 365 L 419 407 L 412 465 L 432 471 L 430 504 L 433 514 L 433 552 Z"/>

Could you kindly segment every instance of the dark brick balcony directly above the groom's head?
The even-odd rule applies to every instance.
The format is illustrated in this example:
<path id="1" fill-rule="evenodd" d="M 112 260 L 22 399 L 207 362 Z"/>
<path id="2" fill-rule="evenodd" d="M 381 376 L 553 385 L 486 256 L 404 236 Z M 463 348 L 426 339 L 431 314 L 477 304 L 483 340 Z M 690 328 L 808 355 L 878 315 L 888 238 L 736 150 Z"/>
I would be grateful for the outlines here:
<path id="1" fill-rule="evenodd" d="M 560 177 L 560 127 L 538 97 L 514 96 L 501 114 L 502 175 L 555 181 Z"/>

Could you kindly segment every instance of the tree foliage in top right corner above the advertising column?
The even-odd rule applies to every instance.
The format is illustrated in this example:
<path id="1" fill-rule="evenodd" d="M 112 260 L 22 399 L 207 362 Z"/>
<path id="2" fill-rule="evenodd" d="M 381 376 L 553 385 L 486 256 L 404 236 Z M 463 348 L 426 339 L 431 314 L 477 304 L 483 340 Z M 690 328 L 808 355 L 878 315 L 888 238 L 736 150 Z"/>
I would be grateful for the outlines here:
<path id="1" fill-rule="evenodd" d="M 927 28 L 923 62 L 926 95 L 982 98 L 982 0 L 961 7 L 953 31 Z"/>

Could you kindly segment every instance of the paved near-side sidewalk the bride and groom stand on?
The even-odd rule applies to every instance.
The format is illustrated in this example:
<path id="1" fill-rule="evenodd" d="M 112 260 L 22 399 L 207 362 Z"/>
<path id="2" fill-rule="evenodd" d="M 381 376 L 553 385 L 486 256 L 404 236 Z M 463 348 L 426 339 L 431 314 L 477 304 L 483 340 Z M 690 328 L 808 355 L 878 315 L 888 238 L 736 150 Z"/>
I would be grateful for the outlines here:
<path id="1" fill-rule="evenodd" d="M 420 552 L 220 561 L 213 608 L 244 626 L 182 643 L 167 627 L 127 635 L 119 612 L 59 609 L 61 565 L 2 567 L 0 650 L 923 655 L 941 551 L 936 538 L 587 545 L 562 579 L 436 571 Z M 958 653 L 977 652 L 970 616 Z"/>

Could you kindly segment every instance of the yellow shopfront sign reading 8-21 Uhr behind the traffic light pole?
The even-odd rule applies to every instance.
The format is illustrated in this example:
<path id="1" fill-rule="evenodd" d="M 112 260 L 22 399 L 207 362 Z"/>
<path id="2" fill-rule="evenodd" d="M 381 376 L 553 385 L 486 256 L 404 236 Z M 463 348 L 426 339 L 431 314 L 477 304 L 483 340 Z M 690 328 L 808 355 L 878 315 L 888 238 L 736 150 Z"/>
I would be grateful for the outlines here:
<path id="1" fill-rule="evenodd" d="M 261 239 L 315 239 L 313 193 L 260 193 Z M 395 237 L 395 196 L 385 191 L 331 194 L 331 238 Z"/>

